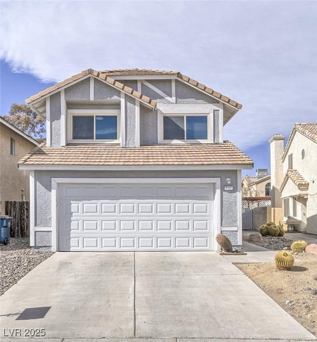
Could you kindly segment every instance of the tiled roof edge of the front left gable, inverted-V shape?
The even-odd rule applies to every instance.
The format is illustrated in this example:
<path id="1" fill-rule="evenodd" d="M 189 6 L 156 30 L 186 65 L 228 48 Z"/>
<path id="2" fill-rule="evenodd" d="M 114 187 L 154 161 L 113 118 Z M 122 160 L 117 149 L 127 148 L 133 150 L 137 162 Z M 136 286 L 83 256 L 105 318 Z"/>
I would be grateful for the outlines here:
<path id="1" fill-rule="evenodd" d="M 57 89 L 65 86 L 65 85 L 70 84 L 70 83 L 80 79 L 81 77 L 84 77 L 84 76 L 89 75 L 89 74 L 101 79 L 105 83 L 111 85 L 112 87 L 114 87 L 120 91 L 122 90 L 123 92 L 133 96 L 137 100 L 141 100 L 141 101 L 149 104 L 153 108 L 155 108 L 157 105 L 157 102 L 155 100 L 152 100 L 148 96 L 145 96 L 145 95 L 141 94 L 140 92 L 133 90 L 132 88 L 127 87 L 126 85 L 114 80 L 113 78 L 107 76 L 106 74 L 101 73 L 101 72 L 96 71 L 96 70 L 93 70 L 93 69 L 84 70 L 84 71 L 80 72 L 79 74 L 76 74 L 74 76 L 71 76 L 71 77 L 65 79 L 62 82 L 56 83 L 52 87 L 49 87 L 49 88 L 39 92 L 38 94 L 35 94 L 35 95 L 31 96 L 30 98 L 26 99 L 25 102 L 27 104 L 29 104 L 29 103 L 33 102 L 34 100 L 37 100 L 37 99 L 41 98 L 42 96 L 48 95 L 51 92 L 53 92 L 54 90 L 57 90 Z"/>

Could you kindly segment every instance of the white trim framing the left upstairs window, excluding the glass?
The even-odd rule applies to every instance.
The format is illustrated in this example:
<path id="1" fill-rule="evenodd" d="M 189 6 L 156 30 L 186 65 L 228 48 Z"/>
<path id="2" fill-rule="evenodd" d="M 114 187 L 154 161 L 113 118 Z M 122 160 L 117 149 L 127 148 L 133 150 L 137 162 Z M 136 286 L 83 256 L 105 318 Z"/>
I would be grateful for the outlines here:
<path id="1" fill-rule="evenodd" d="M 96 116 L 96 115 L 116 115 L 117 116 L 117 139 L 72 139 L 73 136 L 73 116 Z M 94 120 L 94 132 L 95 132 L 96 122 Z M 121 130 L 120 130 L 120 110 L 116 109 L 72 109 L 67 111 L 67 142 L 68 143 L 86 143 L 86 144 L 117 144 L 121 140 Z"/>

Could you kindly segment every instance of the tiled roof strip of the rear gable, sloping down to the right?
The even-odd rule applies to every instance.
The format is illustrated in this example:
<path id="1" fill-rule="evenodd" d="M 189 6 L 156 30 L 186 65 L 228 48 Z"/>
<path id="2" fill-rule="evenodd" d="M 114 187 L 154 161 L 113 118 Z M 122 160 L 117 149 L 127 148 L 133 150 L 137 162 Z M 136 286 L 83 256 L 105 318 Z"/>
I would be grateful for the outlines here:
<path id="1" fill-rule="evenodd" d="M 103 70 L 100 71 L 101 73 L 104 73 L 106 75 L 112 75 L 112 76 L 146 76 L 146 75 L 175 75 L 176 78 L 179 80 L 188 83 L 191 86 L 194 86 L 196 89 L 200 91 L 206 92 L 208 95 L 211 95 L 212 97 L 229 104 L 230 106 L 240 110 L 242 108 L 242 105 L 240 105 L 238 102 L 230 99 L 229 97 L 220 94 L 219 92 L 216 92 L 215 90 L 207 87 L 203 83 L 199 83 L 198 81 L 181 74 L 179 71 L 166 71 L 166 70 L 154 70 L 154 69 L 117 69 L 117 70 Z"/>

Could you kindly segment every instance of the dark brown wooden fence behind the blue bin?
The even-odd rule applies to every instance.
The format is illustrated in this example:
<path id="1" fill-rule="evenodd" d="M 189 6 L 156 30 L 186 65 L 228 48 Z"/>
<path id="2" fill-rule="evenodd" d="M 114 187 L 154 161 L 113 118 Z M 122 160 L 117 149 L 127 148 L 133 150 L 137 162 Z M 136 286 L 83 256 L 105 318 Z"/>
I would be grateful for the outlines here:
<path id="1" fill-rule="evenodd" d="M 4 202 L 4 214 L 12 216 L 11 237 L 29 236 L 29 208 L 30 202 Z"/>

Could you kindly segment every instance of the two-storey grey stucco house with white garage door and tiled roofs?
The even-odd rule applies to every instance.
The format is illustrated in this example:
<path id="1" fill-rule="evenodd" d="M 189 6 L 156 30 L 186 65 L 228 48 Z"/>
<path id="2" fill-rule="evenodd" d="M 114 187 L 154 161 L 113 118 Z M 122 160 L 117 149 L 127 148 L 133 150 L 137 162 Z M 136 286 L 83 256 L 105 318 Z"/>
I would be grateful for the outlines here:
<path id="1" fill-rule="evenodd" d="M 215 250 L 242 243 L 241 170 L 223 140 L 241 105 L 174 71 L 88 69 L 27 99 L 47 142 L 30 171 L 35 248 Z"/>

